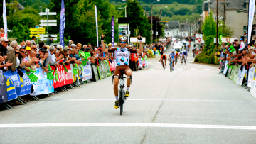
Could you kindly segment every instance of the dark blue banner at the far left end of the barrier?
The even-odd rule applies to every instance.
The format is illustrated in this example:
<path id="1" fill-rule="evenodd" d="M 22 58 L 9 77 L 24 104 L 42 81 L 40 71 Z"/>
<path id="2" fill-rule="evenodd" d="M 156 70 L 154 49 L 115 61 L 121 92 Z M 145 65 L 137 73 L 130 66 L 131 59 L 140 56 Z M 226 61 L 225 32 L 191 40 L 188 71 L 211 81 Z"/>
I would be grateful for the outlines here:
<path id="1" fill-rule="evenodd" d="M 1 71 L 1 70 L 0 70 Z M 6 77 L 0 74 L 0 104 L 8 101 Z"/>

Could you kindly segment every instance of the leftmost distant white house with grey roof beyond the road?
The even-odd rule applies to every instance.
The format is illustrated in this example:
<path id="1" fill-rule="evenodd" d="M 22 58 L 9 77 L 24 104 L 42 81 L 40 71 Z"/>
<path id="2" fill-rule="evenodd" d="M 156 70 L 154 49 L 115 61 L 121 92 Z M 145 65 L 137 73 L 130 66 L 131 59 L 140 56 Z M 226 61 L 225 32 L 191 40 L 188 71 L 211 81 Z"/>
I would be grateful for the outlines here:
<path id="1" fill-rule="evenodd" d="M 179 37 L 180 26 L 178 21 L 169 21 L 165 24 L 164 33 L 166 37 Z"/>

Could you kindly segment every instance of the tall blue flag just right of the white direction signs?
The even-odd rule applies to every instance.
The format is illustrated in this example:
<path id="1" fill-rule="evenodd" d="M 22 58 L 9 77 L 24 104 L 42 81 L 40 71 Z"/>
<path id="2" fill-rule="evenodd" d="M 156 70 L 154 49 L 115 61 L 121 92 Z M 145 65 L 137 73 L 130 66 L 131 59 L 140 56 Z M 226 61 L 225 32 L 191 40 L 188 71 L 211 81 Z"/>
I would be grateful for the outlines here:
<path id="1" fill-rule="evenodd" d="M 64 43 L 64 30 L 65 30 L 65 5 L 64 5 L 64 1 L 61 1 L 61 11 L 60 11 L 60 45 L 63 46 L 63 48 L 65 47 L 65 43 Z"/>

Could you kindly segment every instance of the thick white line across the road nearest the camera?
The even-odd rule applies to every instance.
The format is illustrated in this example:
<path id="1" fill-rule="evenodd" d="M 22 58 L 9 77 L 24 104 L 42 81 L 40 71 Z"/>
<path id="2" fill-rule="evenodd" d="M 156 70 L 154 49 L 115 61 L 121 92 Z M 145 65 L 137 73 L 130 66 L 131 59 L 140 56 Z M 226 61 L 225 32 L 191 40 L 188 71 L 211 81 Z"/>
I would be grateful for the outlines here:
<path id="1" fill-rule="evenodd" d="M 255 130 L 256 126 L 226 126 L 172 123 L 28 123 L 28 124 L 0 124 L 0 128 L 35 128 L 35 127 L 80 127 L 80 126 L 112 126 L 112 127 L 153 127 L 153 128 L 213 128 Z"/>

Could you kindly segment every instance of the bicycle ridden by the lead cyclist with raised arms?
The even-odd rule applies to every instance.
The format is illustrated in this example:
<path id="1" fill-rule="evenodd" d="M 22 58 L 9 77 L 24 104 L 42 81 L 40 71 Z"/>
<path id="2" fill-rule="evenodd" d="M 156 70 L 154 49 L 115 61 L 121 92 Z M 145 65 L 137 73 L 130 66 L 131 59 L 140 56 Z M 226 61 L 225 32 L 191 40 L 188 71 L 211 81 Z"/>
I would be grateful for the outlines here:
<path id="1" fill-rule="evenodd" d="M 122 115 L 122 112 L 123 112 L 123 109 L 124 109 L 124 102 L 125 100 L 127 99 L 127 97 L 125 96 L 125 91 L 124 91 L 124 79 L 125 78 L 129 78 L 131 79 L 131 84 L 132 84 L 132 76 L 130 77 L 124 77 L 124 71 L 121 72 L 121 77 L 119 76 L 112 76 L 112 84 L 114 82 L 114 78 L 119 78 L 119 85 L 120 85 L 120 88 L 119 88 L 119 109 L 120 109 L 120 115 Z"/>

